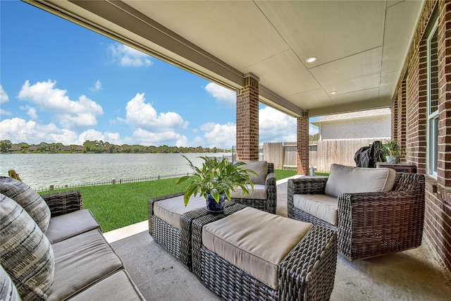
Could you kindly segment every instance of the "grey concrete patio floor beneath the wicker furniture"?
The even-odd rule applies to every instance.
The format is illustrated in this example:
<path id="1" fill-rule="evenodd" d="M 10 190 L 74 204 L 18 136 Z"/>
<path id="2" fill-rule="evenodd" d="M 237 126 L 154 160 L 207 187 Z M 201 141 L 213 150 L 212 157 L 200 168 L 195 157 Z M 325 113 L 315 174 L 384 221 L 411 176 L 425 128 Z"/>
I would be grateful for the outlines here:
<path id="1" fill-rule="evenodd" d="M 277 213 L 286 216 L 287 179 L 277 184 Z M 147 300 L 220 300 L 152 239 L 147 221 L 104 235 Z M 451 300 L 451 280 L 426 243 L 356 262 L 338 255 L 330 300 Z"/>

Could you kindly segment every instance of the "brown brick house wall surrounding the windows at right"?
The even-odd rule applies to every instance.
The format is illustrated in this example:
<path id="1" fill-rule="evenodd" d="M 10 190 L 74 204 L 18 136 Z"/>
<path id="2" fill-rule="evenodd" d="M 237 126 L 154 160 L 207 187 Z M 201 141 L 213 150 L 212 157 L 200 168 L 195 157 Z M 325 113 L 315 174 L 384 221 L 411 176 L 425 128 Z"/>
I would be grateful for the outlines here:
<path id="1" fill-rule="evenodd" d="M 427 47 L 426 27 L 438 10 L 439 121 L 437 178 L 426 174 L 424 240 L 436 257 L 451 271 L 451 2 L 426 0 L 414 32 L 411 48 L 397 85 L 398 102 L 393 102 L 393 137 L 406 133 L 407 160 L 419 173 L 426 173 L 427 142 Z M 407 78 L 407 84 L 406 79 Z M 399 99 L 406 97 L 406 105 Z M 400 113 L 403 111 L 404 113 Z M 402 124 L 402 116 L 407 123 Z"/>

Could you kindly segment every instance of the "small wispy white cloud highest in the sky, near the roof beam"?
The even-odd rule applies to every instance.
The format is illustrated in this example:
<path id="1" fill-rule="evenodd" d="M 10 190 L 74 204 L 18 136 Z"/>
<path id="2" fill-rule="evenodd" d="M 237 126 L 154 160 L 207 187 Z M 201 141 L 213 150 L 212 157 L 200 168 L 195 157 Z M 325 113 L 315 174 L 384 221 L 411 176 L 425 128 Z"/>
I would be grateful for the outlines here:
<path id="1" fill-rule="evenodd" d="M 152 61 L 150 61 L 150 56 L 137 51 L 131 47 L 124 44 L 110 44 L 109 53 L 111 54 L 113 61 L 118 62 L 124 67 L 141 67 L 141 66 L 151 66 Z"/>

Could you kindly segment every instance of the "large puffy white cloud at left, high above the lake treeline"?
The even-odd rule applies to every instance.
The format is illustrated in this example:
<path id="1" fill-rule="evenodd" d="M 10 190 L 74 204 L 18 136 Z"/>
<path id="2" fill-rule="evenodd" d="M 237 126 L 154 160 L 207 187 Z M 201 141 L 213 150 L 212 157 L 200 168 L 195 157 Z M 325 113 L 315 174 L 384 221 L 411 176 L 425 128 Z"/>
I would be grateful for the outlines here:
<path id="1" fill-rule="evenodd" d="M 99 104 L 82 95 L 78 101 L 70 100 L 66 90 L 55 87 L 56 81 L 37 82 L 30 85 L 25 81 L 18 98 L 36 104 L 42 111 L 55 113 L 64 128 L 86 128 L 97 124 L 97 115 L 104 113 Z"/>

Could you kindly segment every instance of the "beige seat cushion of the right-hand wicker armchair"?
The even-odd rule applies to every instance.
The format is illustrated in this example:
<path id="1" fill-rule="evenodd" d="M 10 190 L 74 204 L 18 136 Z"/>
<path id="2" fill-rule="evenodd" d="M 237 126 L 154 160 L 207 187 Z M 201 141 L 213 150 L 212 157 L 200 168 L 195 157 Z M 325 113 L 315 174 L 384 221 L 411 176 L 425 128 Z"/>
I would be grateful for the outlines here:
<path id="1" fill-rule="evenodd" d="M 338 226 L 338 199 L 328 195 L 294 195 L 296 208 Z"/>

